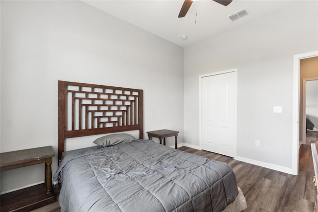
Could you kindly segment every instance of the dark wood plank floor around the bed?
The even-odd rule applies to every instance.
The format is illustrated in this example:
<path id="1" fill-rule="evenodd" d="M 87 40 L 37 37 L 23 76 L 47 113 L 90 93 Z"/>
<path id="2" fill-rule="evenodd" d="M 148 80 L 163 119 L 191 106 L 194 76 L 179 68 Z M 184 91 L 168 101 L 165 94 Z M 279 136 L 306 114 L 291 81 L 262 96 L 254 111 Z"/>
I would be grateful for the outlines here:
<path id="1" fill-rule="evenodd" d="M 182 146 L 182 151 L 228 163 L 237 176 L 247 202 L 244 212 L 313 212 L 315 187 L 310 143 L 318 143 L 318 132 L 308 131 L 306 144 L 299 149 L 299 175 L 237 161 L 213 152 Z M 58 202 L 33 212 L 59 212 Z"/>

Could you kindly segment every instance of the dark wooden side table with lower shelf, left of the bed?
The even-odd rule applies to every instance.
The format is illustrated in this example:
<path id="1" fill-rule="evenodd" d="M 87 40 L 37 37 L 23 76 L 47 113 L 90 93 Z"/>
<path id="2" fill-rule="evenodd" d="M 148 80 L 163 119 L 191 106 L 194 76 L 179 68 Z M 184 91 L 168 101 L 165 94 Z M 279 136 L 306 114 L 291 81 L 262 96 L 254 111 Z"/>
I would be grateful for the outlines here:
<path id="1" fill-rule="evenodd" d="M 52 157 L 54 157 L 52 146 L 3 152 L 0 157 L 0 171 L 45 163 L 44 184 L 1 195 L 1 212 L 30 211 L 55 202 L 51 170 Z"/>

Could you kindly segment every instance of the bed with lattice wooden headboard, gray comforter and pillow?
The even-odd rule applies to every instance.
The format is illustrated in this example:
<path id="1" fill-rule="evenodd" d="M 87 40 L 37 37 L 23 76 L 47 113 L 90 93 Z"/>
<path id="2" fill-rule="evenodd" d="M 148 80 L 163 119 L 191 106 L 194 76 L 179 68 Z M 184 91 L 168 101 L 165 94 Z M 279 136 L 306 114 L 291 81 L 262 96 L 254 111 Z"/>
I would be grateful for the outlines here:
<path id="1" fill-rule="evenodd" d="M 66 139 L 98 134 L 95 146 L 64 151 Z M 63 212 L 246 209 L 226 163 L 143 139 L 140 89 L 59 81 L 58 149 Z"/>

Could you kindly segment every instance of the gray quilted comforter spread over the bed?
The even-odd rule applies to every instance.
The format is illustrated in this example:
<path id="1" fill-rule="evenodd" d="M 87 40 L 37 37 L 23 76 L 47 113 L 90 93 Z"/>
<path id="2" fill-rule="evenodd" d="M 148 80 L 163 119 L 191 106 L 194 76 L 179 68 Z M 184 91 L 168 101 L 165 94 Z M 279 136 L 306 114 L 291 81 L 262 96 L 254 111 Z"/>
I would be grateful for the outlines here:
<path id="1" fill-rule="evenodd" d="M 225 163 L 150 140 L 63 153 L 63 212 L 220 212 L 238 195 Z"/>

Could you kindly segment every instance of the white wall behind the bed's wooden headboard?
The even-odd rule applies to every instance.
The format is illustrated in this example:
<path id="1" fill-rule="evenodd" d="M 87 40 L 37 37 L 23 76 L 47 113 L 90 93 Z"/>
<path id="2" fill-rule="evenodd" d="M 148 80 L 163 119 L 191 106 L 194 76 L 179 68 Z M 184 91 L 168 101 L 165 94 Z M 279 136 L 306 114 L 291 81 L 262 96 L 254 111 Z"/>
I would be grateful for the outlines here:
<path id="1" fill-rule="evenodd" d="M 52 145 L 56 171 L 58 80 L 143 89 L 144 137 L 183 142 L 183 49 L 83 2 L 1 0 L 0 68 L 1 152 Z M 40 181 L 43 164 L 1 172 L 1 192 Z"/>

